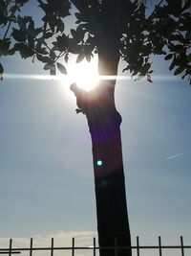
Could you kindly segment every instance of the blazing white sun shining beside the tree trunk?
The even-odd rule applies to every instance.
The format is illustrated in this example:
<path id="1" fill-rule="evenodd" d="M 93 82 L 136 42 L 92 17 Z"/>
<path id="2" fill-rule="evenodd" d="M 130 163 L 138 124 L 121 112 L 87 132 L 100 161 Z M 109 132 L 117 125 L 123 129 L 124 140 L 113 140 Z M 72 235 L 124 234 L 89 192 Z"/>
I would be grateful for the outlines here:
<path id="1" fill-rule="evenodd" d="M 99 81 L 96 60 L 83 60 L 79 63 L 71 61 L 67 66 L 67 72 L 71 83 L 76 82 L 78 87 L 86 91 L 95 88 Z"/>

